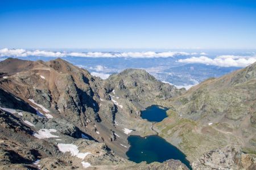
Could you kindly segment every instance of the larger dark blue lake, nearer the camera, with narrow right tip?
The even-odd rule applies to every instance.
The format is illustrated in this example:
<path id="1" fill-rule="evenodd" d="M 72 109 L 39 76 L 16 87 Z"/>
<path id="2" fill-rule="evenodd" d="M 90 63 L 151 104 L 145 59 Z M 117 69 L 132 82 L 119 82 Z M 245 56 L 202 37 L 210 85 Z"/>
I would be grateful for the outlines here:
<path id="1" fill-rule="evenodd" d="M 180 160 L 191 169 L 183 152 L 158 135 L 150 135 L 147 137 L 130 135 L 128 141 L 131 146 L 126 152 L 126 155 L 129 160 L 133 162 L 140 163 L 146 161 L 147 163 L 162 163 L 168 159 L 176 159 Z"/>

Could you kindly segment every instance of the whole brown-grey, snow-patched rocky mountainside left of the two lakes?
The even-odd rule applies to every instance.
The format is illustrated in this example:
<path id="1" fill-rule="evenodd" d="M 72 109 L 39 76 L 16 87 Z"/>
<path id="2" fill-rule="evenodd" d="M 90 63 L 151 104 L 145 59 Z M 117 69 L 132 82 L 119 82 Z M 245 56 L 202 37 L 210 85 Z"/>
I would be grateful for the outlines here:
<path id="1" fill-rule="evenodd" d="M 135 164 L 118 156 L 125 157 L 128 135 L 155 133 L 141 109 L 183 92 L 142 70 L 101 80 L 63 59 L 6 59 L 0 62 L 1 168 L 187 169 L 176 160 Z"/>

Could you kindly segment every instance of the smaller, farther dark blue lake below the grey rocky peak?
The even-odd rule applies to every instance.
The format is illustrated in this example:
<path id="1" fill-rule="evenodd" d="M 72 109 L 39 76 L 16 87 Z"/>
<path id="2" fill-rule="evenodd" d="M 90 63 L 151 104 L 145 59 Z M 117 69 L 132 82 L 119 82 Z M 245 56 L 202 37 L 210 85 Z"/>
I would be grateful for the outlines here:
<path id="1" fill-rule="evenodd" d="M 141 117 L 150 122 L 160 122 L 167 117 L 167 110 L 168 108 L 151 105 L 150 107 L 147 107 L 146 110 L 141 111 Z"/>

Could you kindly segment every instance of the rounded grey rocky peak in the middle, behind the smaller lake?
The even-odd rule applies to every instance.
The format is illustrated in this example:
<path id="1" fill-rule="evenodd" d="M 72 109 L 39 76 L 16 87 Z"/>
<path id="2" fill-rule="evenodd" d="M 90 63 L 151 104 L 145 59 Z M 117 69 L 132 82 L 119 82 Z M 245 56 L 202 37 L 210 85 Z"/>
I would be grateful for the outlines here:
<path id="1" fill-rule="evenodd" d="M 184 89 L 178 90 L 175 86 L 162 83 L 141 69 L 126 69 L 119 74 L 113 74 L 108 81 L 112 82 L 109 83 L 112 88 L 115 87 L 116 91 L 122 92 L 138 107 L 142 104 L 147 106 L 148 101 L 157 103 L 159 100 L 170 99 L 184 92 Z"/>

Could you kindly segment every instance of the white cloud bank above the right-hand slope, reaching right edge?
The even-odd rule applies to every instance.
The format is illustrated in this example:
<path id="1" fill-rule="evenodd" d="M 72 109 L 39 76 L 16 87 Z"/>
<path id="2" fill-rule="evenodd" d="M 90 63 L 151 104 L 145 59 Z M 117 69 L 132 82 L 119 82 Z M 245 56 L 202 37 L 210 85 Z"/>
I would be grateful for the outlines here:
<path id="1" fill-rule="evenodd" d="M 256 62 L 256 56 L 218 56 L 216 58 L 209 58 L 205 56 L 191 57 L 179 59 L 178 62 L 183 63 L 203 63 L 205 65 L 213 65 L 220 67 L 246 67 Z"/>

